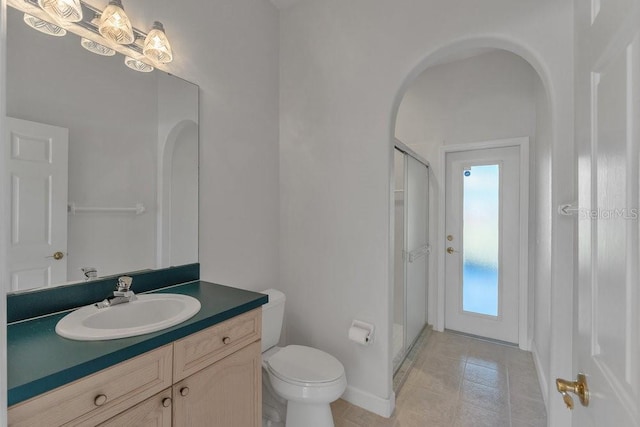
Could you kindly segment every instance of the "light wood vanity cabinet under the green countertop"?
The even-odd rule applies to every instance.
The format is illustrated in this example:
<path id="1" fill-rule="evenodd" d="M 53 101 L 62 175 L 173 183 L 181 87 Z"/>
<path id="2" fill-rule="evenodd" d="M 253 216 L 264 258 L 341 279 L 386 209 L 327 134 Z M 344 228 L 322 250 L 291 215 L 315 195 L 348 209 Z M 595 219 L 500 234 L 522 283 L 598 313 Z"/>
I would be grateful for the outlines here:
<path id="1" fill-rule="evenodd" d="M 254 309 L 9 408 L 10 426 L 259 427 Z"/>

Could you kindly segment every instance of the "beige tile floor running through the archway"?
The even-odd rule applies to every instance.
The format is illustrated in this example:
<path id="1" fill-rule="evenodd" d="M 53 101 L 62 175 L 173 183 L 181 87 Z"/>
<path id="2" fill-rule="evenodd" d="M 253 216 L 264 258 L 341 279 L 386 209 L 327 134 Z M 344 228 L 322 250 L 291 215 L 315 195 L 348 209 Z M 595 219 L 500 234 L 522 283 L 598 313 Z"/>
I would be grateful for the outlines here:
<path id="1" fill-rule="evenodd" d="M 336 427 L 544 427 L 531 353 L 450 332 L 419 341 L 391 418 L 344 400 Z"/>

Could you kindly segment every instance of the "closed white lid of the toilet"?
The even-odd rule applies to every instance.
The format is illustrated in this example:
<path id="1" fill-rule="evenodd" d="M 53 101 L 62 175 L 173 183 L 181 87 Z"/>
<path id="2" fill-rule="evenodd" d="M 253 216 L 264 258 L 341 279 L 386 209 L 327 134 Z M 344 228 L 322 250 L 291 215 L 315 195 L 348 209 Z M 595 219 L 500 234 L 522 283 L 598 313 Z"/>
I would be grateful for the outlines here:
<path id="1" fill-rule="evenodd" d="M 317 348 L 289 345 L 269 361 L 269 368 L 283 379 L 303 383 L 326 383 L 344 375 L 342 363 Z"/>

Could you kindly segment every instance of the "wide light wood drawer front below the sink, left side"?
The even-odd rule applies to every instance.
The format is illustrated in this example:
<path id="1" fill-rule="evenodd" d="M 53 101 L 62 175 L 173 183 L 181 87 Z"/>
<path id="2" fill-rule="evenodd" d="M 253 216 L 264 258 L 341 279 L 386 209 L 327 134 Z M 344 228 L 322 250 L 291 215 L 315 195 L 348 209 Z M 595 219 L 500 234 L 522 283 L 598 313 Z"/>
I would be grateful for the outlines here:
<path id="1" fill-rule="evenodd" d="M 95 425 L 172 384 L 167 345 L 9 408 L 10 426 Z"/>

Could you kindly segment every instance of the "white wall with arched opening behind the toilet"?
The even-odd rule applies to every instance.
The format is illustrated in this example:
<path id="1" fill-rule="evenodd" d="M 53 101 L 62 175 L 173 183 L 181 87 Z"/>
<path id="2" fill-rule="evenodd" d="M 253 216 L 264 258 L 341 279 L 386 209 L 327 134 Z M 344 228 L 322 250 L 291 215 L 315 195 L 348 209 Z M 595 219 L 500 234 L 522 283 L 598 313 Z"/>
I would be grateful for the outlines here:
<path id="1" fill-rule="evenodd" d="M 344 363 L 348 400 L 381 414 L 393 406 L 390 141 L 403 87 L 443 46 L 513 49 L 543 74 L 554 140 L 571 141 L 571 18 L 570 2 L 557 0 L 326 0 L 281 11 L 280 271 L 288 339 Z M 569 151 L 557 160 L 570 161 Z M 554 198 L 568 197 L 565 187 L 554 183 Z M 376 324 L 370 347 L 346 339 L 353 318 Z"/>

